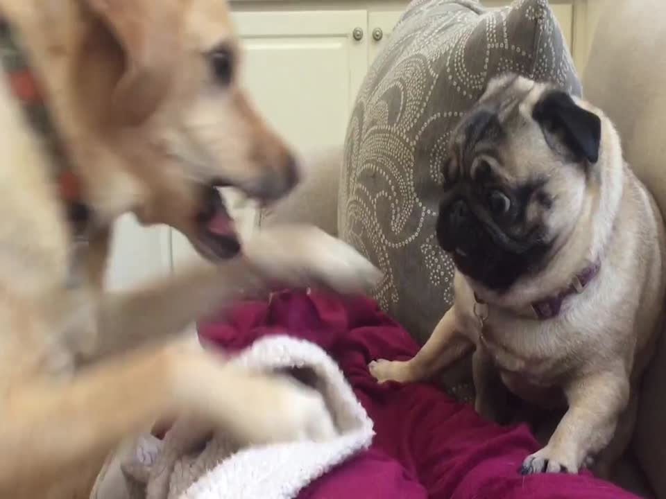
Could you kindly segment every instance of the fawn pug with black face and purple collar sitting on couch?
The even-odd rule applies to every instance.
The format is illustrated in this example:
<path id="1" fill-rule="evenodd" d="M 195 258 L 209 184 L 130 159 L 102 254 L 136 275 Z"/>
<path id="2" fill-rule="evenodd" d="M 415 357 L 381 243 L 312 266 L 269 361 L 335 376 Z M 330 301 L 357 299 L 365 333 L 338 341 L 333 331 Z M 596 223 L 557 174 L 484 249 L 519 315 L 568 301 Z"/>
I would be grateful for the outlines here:
<path id="1" fill-rule="evenodd" d="M 475 348 L 480 414 L 502 416 L 504 386 L 568 407 L 522 473 L 575 473 L 602 450 L 607 472 L 631 437 L 665 296 L 663 220 L 613 125 L 505 76 L 452 134 L 443 174 L 437 235 L 458 270 L 455 304 L 412 360 L 370 370 L 423 380 Z"/>

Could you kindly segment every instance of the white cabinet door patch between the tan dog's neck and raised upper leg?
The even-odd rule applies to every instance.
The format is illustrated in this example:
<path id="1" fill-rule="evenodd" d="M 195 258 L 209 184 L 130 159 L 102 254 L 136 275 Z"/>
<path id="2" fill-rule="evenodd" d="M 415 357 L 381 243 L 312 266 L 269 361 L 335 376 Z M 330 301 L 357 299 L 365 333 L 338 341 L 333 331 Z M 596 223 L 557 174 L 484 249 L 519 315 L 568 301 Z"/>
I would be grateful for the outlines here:
<path id="1" fill-rule="evenodd" d="M 133 215 L 125 215 L 114 229 L 106 274 L 108 289 L 131 288 L 149 277 L 171 272 L 168 227 L 142 227 Z"/>

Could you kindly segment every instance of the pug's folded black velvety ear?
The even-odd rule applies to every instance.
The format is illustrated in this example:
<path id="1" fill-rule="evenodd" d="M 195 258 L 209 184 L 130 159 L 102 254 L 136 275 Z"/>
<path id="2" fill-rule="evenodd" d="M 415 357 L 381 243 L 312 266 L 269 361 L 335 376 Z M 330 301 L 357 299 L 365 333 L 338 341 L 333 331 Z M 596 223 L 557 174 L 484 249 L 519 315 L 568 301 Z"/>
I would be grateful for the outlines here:
<path id="1" fill-rule="evenodd" d="M 565 91 L 547 91 L 532 111 L 549 141 L 549 135 L 558 137 L 578 159 L 596 163 L 601 146 L 601 119 L 583 109 Z M 549 141 L 550 142 L 550 141 Z"/>

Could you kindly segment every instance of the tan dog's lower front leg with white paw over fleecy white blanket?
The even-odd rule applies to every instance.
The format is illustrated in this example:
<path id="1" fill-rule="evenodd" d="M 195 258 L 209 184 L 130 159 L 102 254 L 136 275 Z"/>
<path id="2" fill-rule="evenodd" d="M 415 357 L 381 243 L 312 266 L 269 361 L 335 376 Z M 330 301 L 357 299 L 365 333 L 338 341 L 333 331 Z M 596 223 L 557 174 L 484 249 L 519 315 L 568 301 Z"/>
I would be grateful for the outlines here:
<path id="1" fill-rule="evenodd" d="M 287 378 L 224 365 L 179 345 L 102 362 L 69 380 L 9 392 L 0 420 L 0 497 L 42 497 L 94 455 L 155 419 L 194 414 L 241 441 L 325 439 L 335 433 L 321 396 Z M 50 496 L 49 496 L 50 497 Z"/>

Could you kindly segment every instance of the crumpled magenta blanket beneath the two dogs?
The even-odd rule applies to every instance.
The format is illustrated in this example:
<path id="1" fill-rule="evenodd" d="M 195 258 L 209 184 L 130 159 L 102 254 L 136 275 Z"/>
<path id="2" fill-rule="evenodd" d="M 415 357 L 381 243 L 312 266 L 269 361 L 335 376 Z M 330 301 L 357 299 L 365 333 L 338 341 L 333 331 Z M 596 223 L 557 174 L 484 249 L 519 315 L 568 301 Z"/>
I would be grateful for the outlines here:
<path id="1" fill-rule="evenodd" d="M 369 299 L 282 292 L 270 304 L 241 304 L 225 319 L 200 324 L 199 333 L 232 350 L 272 333 L 316 342 L 339 362 L 375 421 L 370 450 L 311 484 L 300 499 L 635 497 L 588 473 L 523 477 L 518 467 L 538 448 L 524 426 L 483 421 L 431 385 L 378 385 L 366 367 L 370 360 L 409 358 L 418 346 Z"/>

